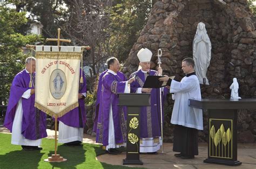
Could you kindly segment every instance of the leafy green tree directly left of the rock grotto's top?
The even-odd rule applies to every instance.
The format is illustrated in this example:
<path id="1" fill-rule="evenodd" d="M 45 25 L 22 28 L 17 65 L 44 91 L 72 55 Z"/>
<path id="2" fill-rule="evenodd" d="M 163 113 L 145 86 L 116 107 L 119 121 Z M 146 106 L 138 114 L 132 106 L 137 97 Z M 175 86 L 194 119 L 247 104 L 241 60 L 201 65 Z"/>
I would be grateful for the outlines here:
<path id="1" fill-rule="evenodd" d="M 119 1 L 111 10 L 110 53 L 124 61 L 150 15 L 151 1 Z"/>

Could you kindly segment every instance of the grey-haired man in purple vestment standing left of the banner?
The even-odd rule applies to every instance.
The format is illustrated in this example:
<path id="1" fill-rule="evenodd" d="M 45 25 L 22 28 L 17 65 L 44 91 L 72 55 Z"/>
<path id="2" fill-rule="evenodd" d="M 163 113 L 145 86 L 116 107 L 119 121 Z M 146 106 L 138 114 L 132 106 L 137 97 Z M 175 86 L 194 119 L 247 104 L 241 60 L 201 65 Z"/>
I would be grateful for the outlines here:
<path id="1" fill-rule="evenodd" d="M 46 114 L 35 105 L 36 58 L 26 59 L 26 68 L 12 81 L 4 126 L 12 132 L 11 144 L 23 150 L 42 150 L 42 138 L 47 137 Z M 30 78 L 31 73 L 31 78 Z M 32 87 L 29 87 L 31 81 Z"/>

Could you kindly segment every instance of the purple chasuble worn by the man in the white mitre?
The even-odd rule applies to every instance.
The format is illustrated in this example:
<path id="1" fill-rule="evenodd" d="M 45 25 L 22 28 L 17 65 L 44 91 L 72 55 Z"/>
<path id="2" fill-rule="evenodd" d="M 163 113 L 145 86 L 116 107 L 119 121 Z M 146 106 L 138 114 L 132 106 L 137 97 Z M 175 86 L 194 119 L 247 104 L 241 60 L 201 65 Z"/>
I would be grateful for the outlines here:
<path id="1" fill-rule="evenodd" d="M 131 74 L 133 77 L 135 74 L 136 81 L 133 81 L 130 85 L 131 93 L 136 93 L 138 88 L 142 88 L 146 80 L 147 73 L 143 73 L 140 69 L 137 72 Z M 157 75 L 157 71 L 150 70 L 149 75 Z M 164 97 L 167 94 L 167 88 L 162 93 L 162 117 L 164 122 Z M 161 114 L 160 114 L 160 89 L 152 88 L 150 95 L 151 106 L 144 106 L 140 112 L 140 138 L 160 137 L 161 136 Z"/>

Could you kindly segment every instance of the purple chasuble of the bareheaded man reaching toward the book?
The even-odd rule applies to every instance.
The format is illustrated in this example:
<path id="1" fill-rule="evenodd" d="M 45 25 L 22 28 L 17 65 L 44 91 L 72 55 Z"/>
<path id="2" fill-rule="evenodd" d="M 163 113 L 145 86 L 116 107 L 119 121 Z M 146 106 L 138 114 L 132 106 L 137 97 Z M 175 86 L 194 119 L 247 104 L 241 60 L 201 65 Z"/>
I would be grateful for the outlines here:
<path id="1" fill-rule="evenodd" d="M 116 144 L 126 142 L 126 107 L 119 107 L 117 93 L 124 93 L 125 81 L 118 75 L 105 73 L 102 78 L 102 95 L 100 96 L 96 142 L 109 145 L 110 104 L 114 123 Z"/>

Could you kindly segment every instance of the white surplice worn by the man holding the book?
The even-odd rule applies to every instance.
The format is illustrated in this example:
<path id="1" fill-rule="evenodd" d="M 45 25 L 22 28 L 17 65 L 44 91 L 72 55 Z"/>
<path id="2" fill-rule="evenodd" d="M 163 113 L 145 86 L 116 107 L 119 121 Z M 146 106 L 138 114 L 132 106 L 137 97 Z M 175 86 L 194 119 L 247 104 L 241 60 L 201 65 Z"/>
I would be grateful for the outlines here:
<path id="1" fill-rule="evenodd" d="M 172 80 L 170 93 L 174 93 L 172 98 L 175 100 L 171 123 L 203 130 L 202 110 L 188 106 L 188 99 L 201 100 L 201 91 L 197 76 L 185 76 L 180 82 Z"/>

